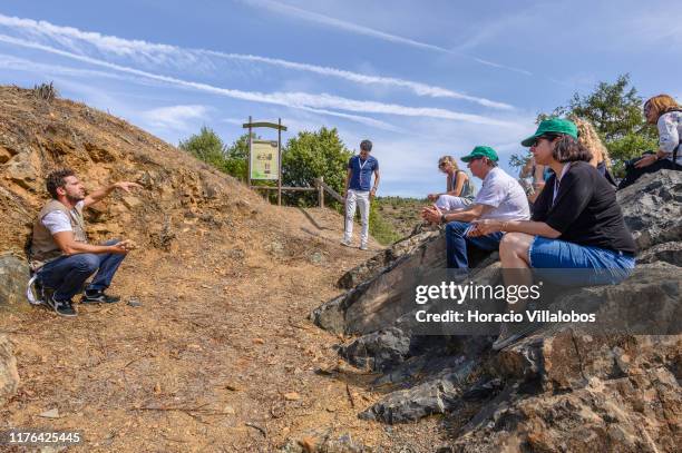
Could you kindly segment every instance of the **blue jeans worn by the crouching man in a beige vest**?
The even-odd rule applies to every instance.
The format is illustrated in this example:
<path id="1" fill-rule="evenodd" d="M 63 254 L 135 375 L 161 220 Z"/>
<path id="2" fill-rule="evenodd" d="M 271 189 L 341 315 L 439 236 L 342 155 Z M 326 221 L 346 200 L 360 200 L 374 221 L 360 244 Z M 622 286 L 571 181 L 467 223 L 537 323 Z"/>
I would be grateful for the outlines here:
<path id="1" fill-rule="evenodd" d="M 106 242 L 114 245 L 118 239 Z M 55 289 L 57 301 L 70 301 L 82 290 L 88 277 L 95 272 L 95 278 L 87 289 L 106 289 L 111 285 L 114 274 L 120 266 L 124 254 L 76 254 L 61 256 L 49 262 L 38 270 L 40 283 L 46 288 Z"/>

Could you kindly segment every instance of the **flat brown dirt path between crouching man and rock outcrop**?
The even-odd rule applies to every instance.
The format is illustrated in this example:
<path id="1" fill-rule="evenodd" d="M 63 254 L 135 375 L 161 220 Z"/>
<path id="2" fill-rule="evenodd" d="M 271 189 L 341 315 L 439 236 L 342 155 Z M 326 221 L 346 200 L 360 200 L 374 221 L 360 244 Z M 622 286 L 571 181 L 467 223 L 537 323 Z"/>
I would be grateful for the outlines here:
<path id="1" fill-rule="evenodd" d="M 276 451 L 350 434 L 379 451 L 431 451 L 436 422 L 387 427 L 357 417 L 380 395 L 340 364 L 308 314 L 370 255 L 341 247 L 341 217 L 272 209 L 267 244 L 187 221 L 172 252 L 137 250 L 115 280 L 124 303 L 4 316 L 22 385 L 6 426 L 80 430 L 75 451 Z M 379 246 L 371 244 L 377 250 Z M 138 298 L 142 307 L 126 305 Z M 57 408 L 59 418 L 39 414 Z"/>

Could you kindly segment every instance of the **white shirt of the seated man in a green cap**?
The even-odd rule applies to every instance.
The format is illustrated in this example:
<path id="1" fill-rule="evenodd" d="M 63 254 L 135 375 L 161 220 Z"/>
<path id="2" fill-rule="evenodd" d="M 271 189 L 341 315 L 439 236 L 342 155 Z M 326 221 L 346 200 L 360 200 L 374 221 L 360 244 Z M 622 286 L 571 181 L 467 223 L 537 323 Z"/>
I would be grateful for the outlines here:
<path id="1" fill-rule="evenodd" d="M 481 219 L 527 220 L 530 218 L 528 199 L 523 187 L 499 167 L 488 171 L 474 204 L 493 208 L 480 216 Z"/>

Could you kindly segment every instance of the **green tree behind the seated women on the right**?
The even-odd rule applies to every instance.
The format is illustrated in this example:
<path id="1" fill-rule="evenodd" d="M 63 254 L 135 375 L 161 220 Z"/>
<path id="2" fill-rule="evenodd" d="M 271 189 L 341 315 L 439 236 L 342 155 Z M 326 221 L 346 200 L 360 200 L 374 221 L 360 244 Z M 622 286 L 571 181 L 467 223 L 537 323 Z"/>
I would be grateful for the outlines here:
<path id="1" fill-rule="evenodd" d="M 600 82 L 586 96 L 574 93 L 566 106 L 552 114 L 539 114 L 537 122 L 549 117 L 577 116 L 588 119 L 600 134 L 620 174 L 627 159 L 640 156 L 646 149 L 656 149 L 656 130 L 646 124 L 642 115 L 642 98 L 631 86 L 630 75 L 618 76 L 615 82 Z M 523 156 L 512 156 L 513 167 L 523 166 Z"/>

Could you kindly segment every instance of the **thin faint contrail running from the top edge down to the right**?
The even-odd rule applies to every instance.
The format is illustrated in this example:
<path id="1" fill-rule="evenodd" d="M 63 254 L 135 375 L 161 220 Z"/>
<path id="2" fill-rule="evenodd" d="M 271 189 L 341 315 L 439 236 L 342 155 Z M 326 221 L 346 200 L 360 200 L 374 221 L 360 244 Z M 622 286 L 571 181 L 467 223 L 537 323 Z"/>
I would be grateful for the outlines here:
<path id="1" fill-rule="evenodd" d="M 308 11 L 301 8 L 292 7 L 291 4 L 280 3 L 276 1 L 272 1 L 272 0 L 242 0 L 242 2 L 254 6 L 254 7 L 259 7 L 259 8 L 265 8 L 276 13 L 282 13 L 282 14 L 291 16 L 298 19 L 306 20 L 309 22 L 315 22 L 315 23 L 321 23 L 321 24 L 329 26 L 329 27 L 334 27 L 340 30 L 349 31 L 355 35 L 368 36 L 371 38 L 381 39 L 383 41 L 393 42 L 398 45 L 406 45 L 406 46 L 410 46 L 410 47 L 415 47 L 419 49 L 426 49 L 426 50 L 437 51 L 441 53 L 449 53 L 449 55 L 455 55 L 459 57 L 467 57 L 467 58 L 471 58 L 474 61 L 480 65 L 490 66 L 493 68 L 507 69 L 507 70 L 519 72 L 526 76 L 533 75 L 530 71 L 527 71 L 525 69 L 493 62 L 489 60 L 485 60 L 483 58 L 472 57 L 472 56 L 462 53 L 458 50 L 447 49 L 441 46 L 417 41 L 415 39 L 401 37 L 398 35 L 387 33 L 387 32 L 379 31 L 379 30 L 376 30 L 369 27 L 362 27 L 362 26 L 359 26 L 352 22 L 347 22 L 344 20 L 324 16 L 319 12 Z"/>

